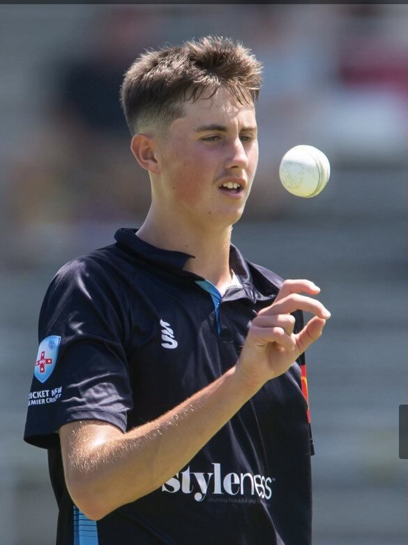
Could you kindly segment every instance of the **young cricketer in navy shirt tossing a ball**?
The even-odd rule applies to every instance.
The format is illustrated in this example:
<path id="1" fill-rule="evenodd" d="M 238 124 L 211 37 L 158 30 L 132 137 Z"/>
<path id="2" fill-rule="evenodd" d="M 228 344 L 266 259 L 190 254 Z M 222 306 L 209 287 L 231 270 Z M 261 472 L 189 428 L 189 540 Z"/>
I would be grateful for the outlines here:
<path id="1" fill-rule="evenodd" d="M 230 245 L 259 74 L 211 37 L 126 73 L 151 208 L 63 266 L 40 312 L 25 439 L 49 451 L 57 544 L 310 544 L 303 352 L 330 314 Z"/>

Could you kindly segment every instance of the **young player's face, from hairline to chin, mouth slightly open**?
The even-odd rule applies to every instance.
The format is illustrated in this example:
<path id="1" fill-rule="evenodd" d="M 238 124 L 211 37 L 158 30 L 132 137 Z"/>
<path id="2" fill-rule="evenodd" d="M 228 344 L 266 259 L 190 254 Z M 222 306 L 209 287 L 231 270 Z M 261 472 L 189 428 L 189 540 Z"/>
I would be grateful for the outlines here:
<path id="1" fill-rule="evenodd" d="M 258 162 L 255 108 L 224 88 L 211 99 L 188 102 L 157 147 L 156 205 L 178 223 L 226 227 L 237 221 Z"/>

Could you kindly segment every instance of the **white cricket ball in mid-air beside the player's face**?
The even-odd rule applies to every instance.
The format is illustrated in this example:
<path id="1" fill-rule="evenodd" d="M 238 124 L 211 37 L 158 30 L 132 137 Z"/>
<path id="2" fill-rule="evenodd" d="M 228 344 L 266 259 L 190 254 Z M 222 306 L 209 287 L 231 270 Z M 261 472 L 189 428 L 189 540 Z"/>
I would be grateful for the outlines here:
<path id="1" fill-rule="evenodd" d="M 295 146 L 282 157 L 279 177 L 289 193 L 298 197 L 315 197 L 326 187 L 330 163 L 317 147 Z"/>

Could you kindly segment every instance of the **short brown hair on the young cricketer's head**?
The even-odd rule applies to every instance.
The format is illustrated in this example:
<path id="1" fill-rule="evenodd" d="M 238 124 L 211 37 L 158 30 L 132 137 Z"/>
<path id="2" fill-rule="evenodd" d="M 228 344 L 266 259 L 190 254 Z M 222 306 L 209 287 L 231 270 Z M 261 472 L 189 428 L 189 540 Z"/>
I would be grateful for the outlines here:
<path id="1" fill-rule="evenodd" d="M 121 86 L 130 133 L 145 124 L 166 126 L 182 117 L 183 101 L 210 98 L 221 86 L 241 104 L 255 103 L 261 71 L 250 50 L 229 38 L 206 36 L 146 51 L 130 66 Z"/>

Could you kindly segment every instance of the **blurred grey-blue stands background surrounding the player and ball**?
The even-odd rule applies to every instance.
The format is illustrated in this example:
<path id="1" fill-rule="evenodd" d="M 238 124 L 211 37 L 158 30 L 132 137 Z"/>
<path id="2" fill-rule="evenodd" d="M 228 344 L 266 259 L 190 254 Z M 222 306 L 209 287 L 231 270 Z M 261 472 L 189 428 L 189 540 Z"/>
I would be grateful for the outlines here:
<path id="1" fill-rule="evenodd" d="M 123 72 L 146 48 L 206 34 L 264 63 L 259 169 L 233 242 L 283 277 L 312 279 L 332 313 L 308 351 L 314 544 L 407 544 L 407 15 L 398 4 L 0 7 L 3 545 L 55 539 L 46 453 L 22 441 L 45 290 L 148 210 Z M 278 180 L 297 144 L 331 161 L 316 198 Z"/>

